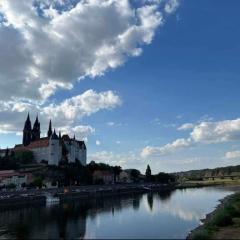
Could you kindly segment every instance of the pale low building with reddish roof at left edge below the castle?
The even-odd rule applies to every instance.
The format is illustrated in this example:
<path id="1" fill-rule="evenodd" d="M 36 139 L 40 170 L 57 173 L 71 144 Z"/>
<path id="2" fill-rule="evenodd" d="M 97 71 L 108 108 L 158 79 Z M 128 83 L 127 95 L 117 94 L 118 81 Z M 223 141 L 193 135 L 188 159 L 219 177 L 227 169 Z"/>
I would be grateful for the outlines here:
<path id="1" fill-rule="evenodd" d="M 23 183 L 27 182 L 27 175 L 18 173 L 14 170 L 0 171 L 0 186 L 6 187 L 10 185 L 15 185 L 20 188 Z"/>

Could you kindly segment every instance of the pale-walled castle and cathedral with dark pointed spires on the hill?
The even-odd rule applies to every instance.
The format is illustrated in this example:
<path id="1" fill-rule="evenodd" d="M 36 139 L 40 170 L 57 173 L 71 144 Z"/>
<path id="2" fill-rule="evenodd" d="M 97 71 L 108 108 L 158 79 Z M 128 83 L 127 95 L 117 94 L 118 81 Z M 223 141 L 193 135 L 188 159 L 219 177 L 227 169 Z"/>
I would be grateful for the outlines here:
<path id="1" fill-rule="evenodd" d="M 87 149 L 84 141 L 70 138 L 65 134 L 56 134 L 55 129 L 52 130 L 52 122 L 50 120 L 46 137 L 41 137 L 41 127 L 38 117 L 31 124 L 28 114 L 23 128 L 22 144 L 15 145 L 12 149 L 14 152 L 22 152 L 30 150 L 33 152 L 36 162 L 48 162 L 49 165 L 58 165 L 62 160 L 63 153 L 67 157 L 68 162 L 80 161 L 82 165 L 86 165 Z"/>

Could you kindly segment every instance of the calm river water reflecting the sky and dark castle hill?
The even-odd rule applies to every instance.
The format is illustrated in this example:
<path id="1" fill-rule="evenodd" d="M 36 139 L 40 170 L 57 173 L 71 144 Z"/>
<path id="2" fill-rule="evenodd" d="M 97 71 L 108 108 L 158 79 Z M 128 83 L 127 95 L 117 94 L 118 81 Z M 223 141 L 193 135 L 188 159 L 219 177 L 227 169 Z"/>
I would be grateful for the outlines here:
<path id="1" fill-rule="evenodd" d="M 185 238 L 233 191 L 175 190 L 0 212 L 0 237 Z"/>

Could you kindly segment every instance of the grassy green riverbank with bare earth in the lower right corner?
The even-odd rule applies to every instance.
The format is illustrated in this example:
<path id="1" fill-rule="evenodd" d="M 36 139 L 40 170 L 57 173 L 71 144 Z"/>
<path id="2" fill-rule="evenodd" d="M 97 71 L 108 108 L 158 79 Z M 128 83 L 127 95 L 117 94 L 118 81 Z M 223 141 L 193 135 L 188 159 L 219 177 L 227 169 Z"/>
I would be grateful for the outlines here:
<path id="1" fill-rule="evenodd" d="M 190 233 L 188 239 L 240 239 L 240 193 L 222 200 L 217 209 L 207 215 L 204 224 Z"/>

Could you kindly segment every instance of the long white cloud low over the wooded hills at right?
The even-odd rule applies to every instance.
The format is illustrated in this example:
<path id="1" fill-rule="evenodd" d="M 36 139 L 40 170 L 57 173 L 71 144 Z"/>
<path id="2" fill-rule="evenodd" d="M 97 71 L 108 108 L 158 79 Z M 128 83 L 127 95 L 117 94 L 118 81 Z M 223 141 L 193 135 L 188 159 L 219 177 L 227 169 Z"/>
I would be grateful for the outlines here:
<path id="1" fill-rule="evenodd" d="M 190 127 L 184 124 L 180 130 Z M 218 122 L 201 122 L 193 127 L 188 138 L 181 138 L 160 147 L 145 147 L 141 156 L 163 156 L 175 152 L 178 149 L 187 148 L 197 143 L 213 144 L 240 140 L 240 119 Z M 231 156 L 231 154 L 229 155 Z"/>

